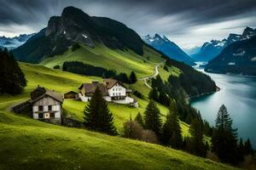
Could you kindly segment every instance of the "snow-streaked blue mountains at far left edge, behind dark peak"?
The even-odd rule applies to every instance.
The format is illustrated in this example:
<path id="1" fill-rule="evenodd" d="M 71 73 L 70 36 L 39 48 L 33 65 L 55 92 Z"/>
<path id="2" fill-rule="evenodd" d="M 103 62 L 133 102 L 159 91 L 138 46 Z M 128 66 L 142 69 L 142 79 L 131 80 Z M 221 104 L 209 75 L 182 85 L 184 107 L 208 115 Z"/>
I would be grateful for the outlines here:
<path id="1" fill-rule="evenodd" d="M 20 34 L 18 37 L 0 37 L 0 47 L 9 49 L 17 48 L 33 35 L 35 34 Z"/>

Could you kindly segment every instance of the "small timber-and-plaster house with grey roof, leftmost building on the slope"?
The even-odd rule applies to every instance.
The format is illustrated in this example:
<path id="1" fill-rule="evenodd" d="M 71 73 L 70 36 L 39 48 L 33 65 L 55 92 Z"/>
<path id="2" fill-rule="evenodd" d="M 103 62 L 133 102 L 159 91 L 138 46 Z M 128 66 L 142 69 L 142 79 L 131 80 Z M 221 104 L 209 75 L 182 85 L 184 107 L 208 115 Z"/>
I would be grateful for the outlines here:
<path id="1" fill-rule="evenodd" d="M 32 117 L 44 122 L 61 124 L 63 95 L 38 86 L 31 93 Z"/>

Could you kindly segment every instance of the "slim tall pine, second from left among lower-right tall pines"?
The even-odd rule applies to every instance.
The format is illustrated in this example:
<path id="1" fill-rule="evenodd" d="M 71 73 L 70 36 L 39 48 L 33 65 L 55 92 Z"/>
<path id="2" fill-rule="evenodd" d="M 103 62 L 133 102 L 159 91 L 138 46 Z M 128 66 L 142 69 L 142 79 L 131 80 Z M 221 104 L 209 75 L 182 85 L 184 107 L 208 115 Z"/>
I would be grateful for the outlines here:
<path id="1" fill-rule="evenodd" d="M 177 108 L 174 100 L 171 101 L 169 114 L 166 116 L 166 123 L 163 126 L 162 140 L 163 144 L 171 145 L 172 148 L 182 148 L 183 137 L 177 119 Z"/>

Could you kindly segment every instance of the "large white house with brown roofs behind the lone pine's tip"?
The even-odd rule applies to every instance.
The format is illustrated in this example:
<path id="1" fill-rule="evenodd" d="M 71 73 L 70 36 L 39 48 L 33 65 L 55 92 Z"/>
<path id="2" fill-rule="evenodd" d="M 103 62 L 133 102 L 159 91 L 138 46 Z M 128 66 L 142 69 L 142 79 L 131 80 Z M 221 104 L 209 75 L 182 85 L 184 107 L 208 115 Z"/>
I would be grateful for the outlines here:
<path id="1" fill-rule="evenodd" d="M 89 101 L 96 88 L 101 90 L 104 99 L 108 102 L 138 106 L 137 100 L 130 96 L 131 89 L 126 88 L 122 82 L 114 79 L 104 79 L 103 83 L 94 81 L 82 84 L 79 87 L 79 99 L 84 102 Z"/>

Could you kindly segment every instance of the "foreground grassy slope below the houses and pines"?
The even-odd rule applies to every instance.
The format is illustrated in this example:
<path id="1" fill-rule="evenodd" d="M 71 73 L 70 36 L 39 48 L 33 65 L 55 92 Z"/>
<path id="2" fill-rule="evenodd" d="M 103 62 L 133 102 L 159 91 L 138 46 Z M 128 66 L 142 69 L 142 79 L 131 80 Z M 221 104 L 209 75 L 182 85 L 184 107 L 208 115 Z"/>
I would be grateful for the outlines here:
<path id="1" fill-rule="evenodd" d="M 156 144 L 0 112 L 0 169 L 232 169 Z"/>

